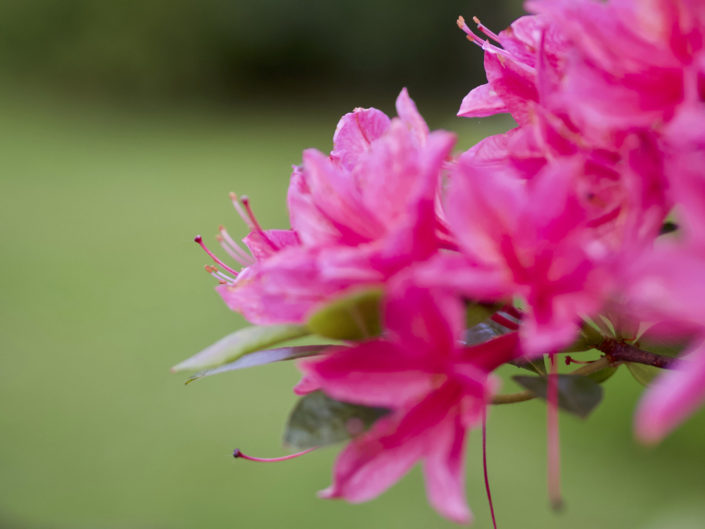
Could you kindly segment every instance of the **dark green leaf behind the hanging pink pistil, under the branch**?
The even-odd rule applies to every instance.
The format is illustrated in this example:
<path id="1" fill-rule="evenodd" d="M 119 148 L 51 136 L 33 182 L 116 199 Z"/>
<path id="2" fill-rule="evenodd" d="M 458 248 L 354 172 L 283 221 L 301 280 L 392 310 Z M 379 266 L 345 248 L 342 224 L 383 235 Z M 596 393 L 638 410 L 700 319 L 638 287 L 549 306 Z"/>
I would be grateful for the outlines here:
<path id="1" fill-rule="evenodd" d="M 524 389 L 544 400 L 548 395 L 548 377 L 512 377 Z M 558 406 L 584 419 L 602 400 L 602 387 L 588 377 L 558 375 Z"/>

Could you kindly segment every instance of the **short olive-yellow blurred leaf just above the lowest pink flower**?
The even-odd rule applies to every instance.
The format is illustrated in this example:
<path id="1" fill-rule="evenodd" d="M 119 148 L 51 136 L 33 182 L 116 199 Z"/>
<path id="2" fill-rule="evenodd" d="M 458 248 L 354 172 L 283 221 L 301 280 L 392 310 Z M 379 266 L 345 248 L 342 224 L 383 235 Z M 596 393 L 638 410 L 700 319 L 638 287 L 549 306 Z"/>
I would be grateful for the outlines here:
<path id="1" fill-rule="evenodd" d="M 357 290 L 311 314 L 308 328 L 335 340 L 364 340 L 382 333 L 382 290 Z"/>

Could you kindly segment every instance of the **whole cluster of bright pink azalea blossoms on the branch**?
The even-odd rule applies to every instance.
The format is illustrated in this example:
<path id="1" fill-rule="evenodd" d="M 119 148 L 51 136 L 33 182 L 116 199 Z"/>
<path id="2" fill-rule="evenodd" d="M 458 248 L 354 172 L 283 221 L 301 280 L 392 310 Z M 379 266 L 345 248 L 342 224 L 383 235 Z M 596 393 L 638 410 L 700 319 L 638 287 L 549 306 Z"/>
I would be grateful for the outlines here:
<path id="1" fill-rule="evenodd" d="M 597 348 L 601 365 L 671 368 L 637 410 L 646 442 L 705 400 L 705 3 L 527 8 L 498 34 L 458 20 L 488 80 L 458 115 L 508 113 L 515 128 L 454 153 L 402 90 L 397 117 L 355 109 L 330 153 L 304 151 L 290 229 L 264 230 L 233 195 L 249 252 L 221 228 L 230 266 L 197 238 L 220 296 L 257 326 L 315 333 L 322 311 L 378 294 L 379 329 L 350 302 L 359 333 L 299 360 L 298 395 L 385 410 L 351 426 L 324 497 L 374 498 L 421 461 L 431 504 L 469 521 L 464 440 L 507 363 L 548 355 L 555 380 L 555 355 Z M 485 318 L 501 332 L 469 338 Z M 226 345 L 200 358 L 223 364 Z"/>

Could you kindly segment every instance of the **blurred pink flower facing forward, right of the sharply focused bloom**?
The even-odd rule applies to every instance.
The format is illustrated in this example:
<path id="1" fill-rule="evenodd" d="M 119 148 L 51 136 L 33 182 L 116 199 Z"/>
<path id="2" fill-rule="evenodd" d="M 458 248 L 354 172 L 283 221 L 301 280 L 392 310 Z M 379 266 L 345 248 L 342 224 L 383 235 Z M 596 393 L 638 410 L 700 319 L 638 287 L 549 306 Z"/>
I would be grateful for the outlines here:
<path id="1" fill-rule="evenodd" d="M 518 296 L 526 304 L 520 331 L 526 353 L 568 345 L 613 281 L 609 249 L 591 229 L 575 189 L 581 169 L 568 159 L 525 180 L 462 157 L 447 200 L 460 255 L 439 255 L 418 280 L 479 301 Z"/>

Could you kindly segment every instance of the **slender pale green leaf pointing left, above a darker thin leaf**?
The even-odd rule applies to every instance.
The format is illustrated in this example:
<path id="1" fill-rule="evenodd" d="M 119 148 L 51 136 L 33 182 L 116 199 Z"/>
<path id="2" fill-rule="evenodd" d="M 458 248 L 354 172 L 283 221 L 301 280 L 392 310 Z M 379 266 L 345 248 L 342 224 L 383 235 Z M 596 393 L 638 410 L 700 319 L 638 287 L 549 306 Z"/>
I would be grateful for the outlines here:
<path id="1" fill-rule="evenodd" d="M 264 325 L 240 329 L 171 368 L 172 372 L 218 367 L 254 351 L 310 334 L 301 325 Z"/>

